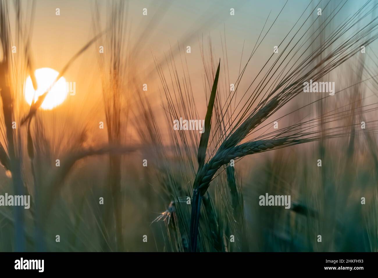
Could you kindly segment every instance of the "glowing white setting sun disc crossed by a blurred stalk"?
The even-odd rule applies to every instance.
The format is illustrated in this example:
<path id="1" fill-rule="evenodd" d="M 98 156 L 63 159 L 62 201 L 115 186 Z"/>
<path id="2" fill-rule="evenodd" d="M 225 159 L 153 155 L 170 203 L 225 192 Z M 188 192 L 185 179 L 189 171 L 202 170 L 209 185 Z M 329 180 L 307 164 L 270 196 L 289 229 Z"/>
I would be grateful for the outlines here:
<path id="1" fill-rule="evenodd" d="M 37 90 L 34 91 L 33 82 L 31 81 L 30 76 L 26 78 L 25 82 L 25 100 L 28 104 L 31 104 L 35 96 L 34 102 L 37 101 L 40 95 L 46 92 L 53 84 L 54 80 L 59 75 L 59 72 L 53 70 L 52 68 L 39 68 L 34 71 L 37 81 Z M 45 100 L 43 100 L 42 109 L 51 110 L 58 105 L 62 104 L 63 101 L 67 98 L 68 90 L 66 85 L 66 79 L 62 76 L 54 84 L 54 86 L 47 93 Z"/>

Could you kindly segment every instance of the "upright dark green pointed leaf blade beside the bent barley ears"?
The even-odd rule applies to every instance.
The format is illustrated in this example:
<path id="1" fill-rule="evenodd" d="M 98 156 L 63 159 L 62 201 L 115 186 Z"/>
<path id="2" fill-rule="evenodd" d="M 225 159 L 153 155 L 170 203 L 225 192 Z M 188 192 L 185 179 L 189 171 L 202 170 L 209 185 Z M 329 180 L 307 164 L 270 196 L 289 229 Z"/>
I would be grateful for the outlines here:
<path id="1" fill-rule="evenodd" d="M 201 135 L 200 144 L 198 145 L 198 170 L 201 169 L 205 163 L 206 158 L 206 149 L 208 148 L 209 137 L 210 137 L 210 130 L 211 130 L 211 117 L 212 117 L 212 110 L 214 108 L 214 101 L 215 95 L 217 93 L 217 85 L 218 85 L 218 78 L 219 78 L 219 68 L 220 68 L 220 59 L 218 64 L 217 73 L 215 74 L 215 79 L 213 83 L 213 87 L 211 89 L 211 94 L 209 98 L 208 110 L 206 111 L 205 116 L 205 124 L 204 124 L 204 132 Z"/>

